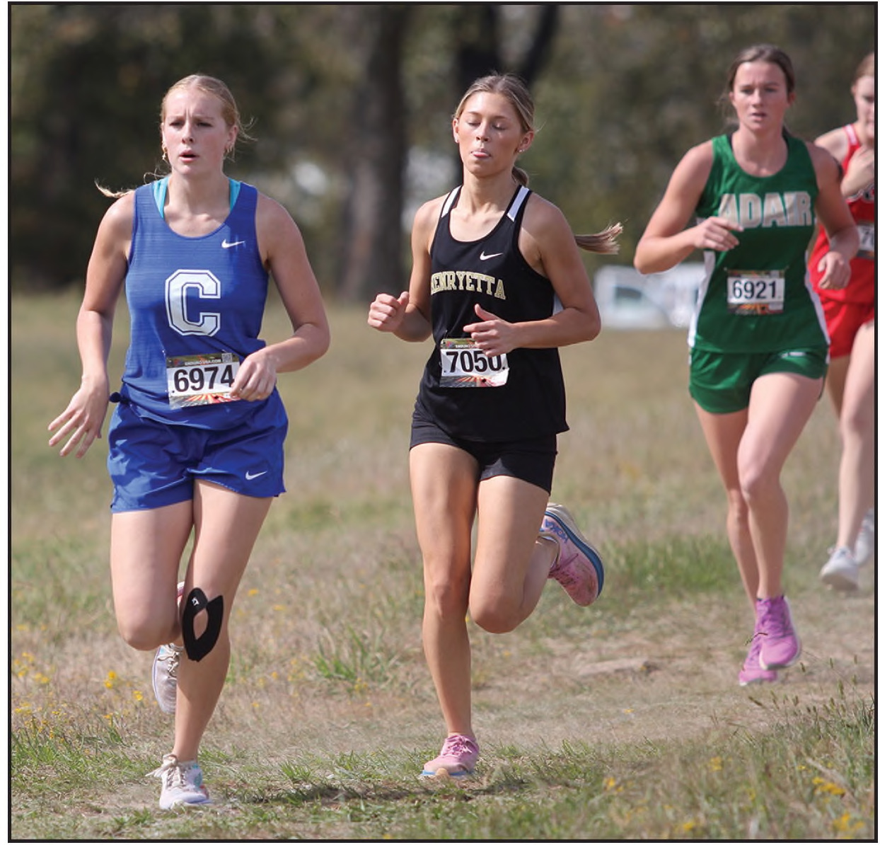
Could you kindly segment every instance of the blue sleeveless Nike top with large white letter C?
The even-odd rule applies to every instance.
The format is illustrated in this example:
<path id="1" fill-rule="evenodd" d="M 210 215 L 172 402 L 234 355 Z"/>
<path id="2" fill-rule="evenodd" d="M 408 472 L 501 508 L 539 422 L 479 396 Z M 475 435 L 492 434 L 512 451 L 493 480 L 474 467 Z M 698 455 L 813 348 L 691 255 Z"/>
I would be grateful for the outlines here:
<path id="1" fill-rule="evenodd" d="M 220 356 L 240 363 L 266 345 L 259 337 L 268 293 L 257 243 L 259 194 L 250 185 L 233 187 L 238 190 L 231 191 L 224 224 L 196 238 L 179 235 L 165 223 L 155 185 L 135 191 L 125 280 L 131 339 L 120 393 L 141 415 L 160 422 L 230 429 L 257 410 L 265 420 L 272 408 L 279 424 L 287 419 L 277 391 L 262 402 L 180 405 L 169 398 L 169 370 L 181 360 Z M 214 377 L 219 378 L 216 373 L 200 376 Z"/>

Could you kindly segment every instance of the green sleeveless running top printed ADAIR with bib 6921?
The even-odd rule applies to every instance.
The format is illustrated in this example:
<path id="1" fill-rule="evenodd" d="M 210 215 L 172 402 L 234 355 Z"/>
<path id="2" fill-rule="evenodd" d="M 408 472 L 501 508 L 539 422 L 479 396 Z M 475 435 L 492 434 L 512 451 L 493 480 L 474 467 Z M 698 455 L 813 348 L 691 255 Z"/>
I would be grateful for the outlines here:
<path id="1" fill-rule="evenodd" d="M 706 250 L 688 333 L 693 349 L 774 352 L 827 347 L 825 318 L 807 275 L 818 195 L 810 151 L 785 134 L 788 159 L 772 176 L 737 164 L 730 136 L 712 139 L 713 161 L 696 215 L 743 226 L 729 252 Z"/>

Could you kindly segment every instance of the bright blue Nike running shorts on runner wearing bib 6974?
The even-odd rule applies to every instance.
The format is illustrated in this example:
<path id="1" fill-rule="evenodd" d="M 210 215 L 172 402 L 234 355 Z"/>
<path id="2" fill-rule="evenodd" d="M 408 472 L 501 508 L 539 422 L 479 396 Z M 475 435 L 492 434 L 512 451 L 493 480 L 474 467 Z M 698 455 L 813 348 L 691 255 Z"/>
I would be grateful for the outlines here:
<path id="1" fill-rule="evenodd" d="M 110 510 L 187 502 L 199 478 L 243 496 L 279 496 L 286 435 L 286 421 L 279 425 L 275 409 L 265 404 L 235 428 L 209 430 L 159 423 L 123 400 L 107 432 L 107 470 L 114 483 Z"/>

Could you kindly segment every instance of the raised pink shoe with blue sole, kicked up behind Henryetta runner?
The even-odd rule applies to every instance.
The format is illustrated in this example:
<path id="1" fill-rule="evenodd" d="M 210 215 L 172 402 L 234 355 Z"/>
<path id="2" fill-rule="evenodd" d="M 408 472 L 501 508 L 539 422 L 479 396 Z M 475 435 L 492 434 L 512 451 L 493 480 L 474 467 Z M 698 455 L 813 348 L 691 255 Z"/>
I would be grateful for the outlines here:
<path id="1" fill-rule="evenodd" d="M 547 577 L 558 581 L 576 605 L 591 605 L 598 599 L 605 582 L 602 558 L 583 539 L 575 519 L 561 504 L 547 505 L 539 537 L 549 537 L 559 546 Z"/>

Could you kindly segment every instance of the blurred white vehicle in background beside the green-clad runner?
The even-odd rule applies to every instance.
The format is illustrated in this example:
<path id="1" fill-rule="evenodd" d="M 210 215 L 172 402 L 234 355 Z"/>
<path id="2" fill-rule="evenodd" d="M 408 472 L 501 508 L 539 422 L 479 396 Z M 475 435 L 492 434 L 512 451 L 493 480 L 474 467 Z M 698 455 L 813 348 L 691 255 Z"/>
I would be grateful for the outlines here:
<path id="1" fill-rule="evenodd" d="M 607 264 L 593 276 L 593 295 L 605 328 L 686 328 L 706 270 L 696 261 L 643 276 Z"/>

